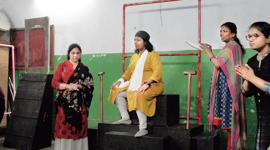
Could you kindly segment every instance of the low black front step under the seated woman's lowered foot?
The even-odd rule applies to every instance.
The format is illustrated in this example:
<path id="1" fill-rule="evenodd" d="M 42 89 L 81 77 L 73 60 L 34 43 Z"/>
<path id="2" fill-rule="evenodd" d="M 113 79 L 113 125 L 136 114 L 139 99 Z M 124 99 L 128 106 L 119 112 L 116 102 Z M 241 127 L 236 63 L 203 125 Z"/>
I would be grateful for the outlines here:
<path id="1" fill-rule="evenodd" d="M 170 137 L 147 135 L 134 137 L 135 133 L 111 131 L 105 133 L 106 150 L 128 149 L 128 150 L 167 150 Z"/>

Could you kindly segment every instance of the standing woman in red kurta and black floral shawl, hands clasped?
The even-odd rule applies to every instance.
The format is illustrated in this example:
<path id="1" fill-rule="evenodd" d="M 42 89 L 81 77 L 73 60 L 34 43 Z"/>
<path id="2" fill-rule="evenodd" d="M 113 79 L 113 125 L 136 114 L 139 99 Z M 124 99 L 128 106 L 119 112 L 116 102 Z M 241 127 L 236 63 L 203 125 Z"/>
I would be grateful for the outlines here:
<path id="1" fill-rule="evenodd" d="M 67 60 L 54 73 L 52 87 L 58 90 L 55 99 L 55 150 L 88 150 L 87 117 L 93 98 L 92 75 L 81 63 L 81 47 L 71 44 Z"/>

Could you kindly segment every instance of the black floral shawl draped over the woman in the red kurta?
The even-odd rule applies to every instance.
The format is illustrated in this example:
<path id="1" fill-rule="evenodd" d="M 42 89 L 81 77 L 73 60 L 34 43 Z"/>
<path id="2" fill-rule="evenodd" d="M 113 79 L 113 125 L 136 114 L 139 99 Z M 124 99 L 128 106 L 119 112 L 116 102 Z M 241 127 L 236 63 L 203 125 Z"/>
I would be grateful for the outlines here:
<path id="1" fill-rule="evenodd" d="M 55 99 L 55 117 L 58 113 L 58 106 L 63 107 L 65 114 L 65 123 L 71 124 L 78 130 L 82 130 L 82 107 L 85 105 L 88 117 L 88 109 L 91 105 L 94 91 L 93 77 L 85 64 L 79 62 L 73 74 L 67 81 L 67 84 L 82 85 L 79 91 L 58 91 Z"/>

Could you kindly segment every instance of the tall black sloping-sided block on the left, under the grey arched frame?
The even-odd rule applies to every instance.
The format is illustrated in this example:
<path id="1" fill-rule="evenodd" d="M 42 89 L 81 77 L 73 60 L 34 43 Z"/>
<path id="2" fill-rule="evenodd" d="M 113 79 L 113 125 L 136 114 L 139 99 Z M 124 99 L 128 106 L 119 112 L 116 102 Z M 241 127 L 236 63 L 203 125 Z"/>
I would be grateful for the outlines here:
<path id="1" fill-rule="evenodd" d="M 52 145 L 52 77 L 21 73 L 4 147 L 37 150 Z"/>

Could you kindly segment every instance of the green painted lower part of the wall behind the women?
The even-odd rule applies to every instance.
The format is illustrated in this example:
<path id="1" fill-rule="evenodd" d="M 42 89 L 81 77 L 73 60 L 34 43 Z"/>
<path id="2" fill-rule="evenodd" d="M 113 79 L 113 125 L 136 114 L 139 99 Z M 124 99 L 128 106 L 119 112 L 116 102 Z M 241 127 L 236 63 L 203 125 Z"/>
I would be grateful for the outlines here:
<path id="1" fill-rule="evenodd" d="M 247 54 L 244 58 L 244 63 L 248 58 L 256 54 L 256 51 L 252 49 L 246 49 Z M 186 51 L 169 51 L 159 53 L 178 53 L 178 52 L 194 52 L 191 50 Z M 219 50 L 213 50 L 215 55 Z M 133 53 L 130 53 L 133 54 Z M 105 72 L 103 77 L 103 99 L 104 99 L 104 121 L 120 119 L 120 113 L 116 105 L 107 101 L 110 93 L 110 86 L 116 82 L 122 76 L 122 53 L 112 54 L 87 54 L 82 55 L 82 63 L 86 64 L 92 73 L 94 79 L 95 90 L 93 92 L 94 97 L 91 103 L 88 127 L 95 127 L 100 122 L 100 78 L 97 75 L 99 72 Z M 66 55 L 54 56 L 54 69 L 57 65 L 66 60 Z M 126 58 L 125 66 L 127 68 L 130 58 Z M 164 93 L 163 94 L 179 94 L 180 95 L 180 116 L 186 115 L 187 106 L 187 83 L 188 77 L 183 74 L 186 70 L 198 70 L 197 69 L 197 56 L 162 56 L 163 65 L 163 80 L 164 80 Z M 202 104 L 202 123 L 205 125 L 205 132 L 208 132 L 207 124 L 207 103 L 208 92 L 210 88 L 211 74 L 213 65 L 209 61 L 207 55 L 202 52 L 201 58 L 201 104 Z M 50 70 L 50 74 L 53 74 L 55 70 Z M 16 85 L 18 84 L 19 74 L 24 73 L 24 70 L 16 70 Z M 191 85 L 191 112 L 190 116 L 197 115 L 197 75 L 192 76 Z M 54 91 L 55 98 L 56 90 Z M 256 136 L 256 105 L 254 97 L 247 98 L 247 129 L 248 129 L 248 143 L 249 148 L 254 149 L 255 136 Z M 180 120 L 180 123 L 184 123 L 184 120 Z M 191 120 L 191 123 L 197 122 Z M 54 133 L 54 125 L 53 125 Z M 226 145 L 226 131 L 220 130 L 221 134 L 221 146 Z"/>

